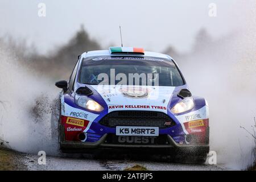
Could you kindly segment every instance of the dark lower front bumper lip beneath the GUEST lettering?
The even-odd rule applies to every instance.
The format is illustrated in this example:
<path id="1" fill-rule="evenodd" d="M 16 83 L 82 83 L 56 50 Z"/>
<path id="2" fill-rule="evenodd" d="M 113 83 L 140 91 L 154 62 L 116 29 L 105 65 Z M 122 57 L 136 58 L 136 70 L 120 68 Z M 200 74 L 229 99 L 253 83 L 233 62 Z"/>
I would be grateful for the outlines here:
<path id="1" fill-rule="evenodd" d="M 126 150 L 143 150 L 150 152 L 153 151 L 176 151 L 179 153 L 188 154 L 205 154 L 209 152 L 209 144 L 177 144 L 170 135 L 167 135 L 169 144 L 156 144 L 156 145 L 145 145 L 145 144 L 107 144 L 105 140 L 108 134 L 103 135 L 97 142 L 79 142 L 79 141 L 61 141 L 60 149 L 63 152 L 94 152 L 99 149 L 126 149 Z M 149 149 L 149 150 L 144 150 Z"/>

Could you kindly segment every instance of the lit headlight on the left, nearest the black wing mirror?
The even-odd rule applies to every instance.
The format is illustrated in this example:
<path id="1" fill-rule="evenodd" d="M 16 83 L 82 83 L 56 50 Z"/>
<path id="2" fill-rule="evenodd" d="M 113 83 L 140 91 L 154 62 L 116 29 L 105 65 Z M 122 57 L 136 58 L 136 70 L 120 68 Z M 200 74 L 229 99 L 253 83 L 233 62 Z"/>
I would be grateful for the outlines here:
<path id="1" fill-rule="evenodd" d="M 85 109 L 93 110 L 93 111 L 102 111 L 104 107 L 102 107 L 98 102 L 86 97 L 86 96 L 75 96 L 75 102 L 80 107 Z"/>

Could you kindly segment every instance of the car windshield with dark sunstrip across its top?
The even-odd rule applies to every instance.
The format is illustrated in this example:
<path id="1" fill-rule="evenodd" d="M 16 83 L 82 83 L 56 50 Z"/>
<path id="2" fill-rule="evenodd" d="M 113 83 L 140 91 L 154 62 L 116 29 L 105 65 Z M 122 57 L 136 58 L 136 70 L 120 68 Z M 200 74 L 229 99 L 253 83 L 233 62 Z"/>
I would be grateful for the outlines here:
<path id="1" fill-rule="evenodd" d="M 90 85 L 184 85 L 173 61 L 155 57 L 86 58 L 79 82 Z"/>

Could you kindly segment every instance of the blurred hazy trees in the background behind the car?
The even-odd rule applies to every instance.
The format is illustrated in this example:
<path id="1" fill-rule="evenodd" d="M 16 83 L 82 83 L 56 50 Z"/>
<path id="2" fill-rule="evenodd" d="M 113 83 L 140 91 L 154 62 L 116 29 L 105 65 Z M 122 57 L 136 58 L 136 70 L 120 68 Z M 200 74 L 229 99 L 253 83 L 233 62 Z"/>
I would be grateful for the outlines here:
<path id="1" fill-rule="evenodd" d="M 201 52 L 205 47 L 209 47 L 213 43 L 208 32 L 202 28 L 195 37 L 195 44 L 191 49 L 191 53 Z M 40 48 L 35 44 L 28 46 L 24 39 L 15 40 L 11 36 L 6 36 L 0 38 L 0 44 L 13 53 L 18 58 L 18 61 L 26 64 L 26 67 L 30 67 L 37 73 L 45 74 L 54 80 L 67 80 L 77 61 L 77 56 L 81 55 L 81 53 L 102 49 L 100 42 L 90 38 L 84 26 L 81 26 L 80 30 L 67 43 L 49 51 L 45 55 L 38 51 Z M 177 52 L 171 44 L 162 53 L 172 56 L 177 61 L 182 61 L 187 56 L 184 53 Z"/>

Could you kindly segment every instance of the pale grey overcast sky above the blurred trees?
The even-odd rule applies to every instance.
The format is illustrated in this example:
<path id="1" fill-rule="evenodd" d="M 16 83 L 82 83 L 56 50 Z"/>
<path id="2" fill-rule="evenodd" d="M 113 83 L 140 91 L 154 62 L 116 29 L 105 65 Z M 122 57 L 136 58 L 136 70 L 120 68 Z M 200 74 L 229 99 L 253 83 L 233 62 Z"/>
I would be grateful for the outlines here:
<path id="1" fill-rule="evenodd" d="M 38 16 L 38 3 L 46 4 L 46 17 Z M 217 17 L 209 4 L 216 3 Z M 90 36 L 106 48 L 124 46 L 163 51 L 172 45 L 189 51 L 196 32 L 205 27 L 218 38 L 240 28 L 244 0 L 0 0 L 0 36 L 26 38 L 42 52 L 54 49 L 84 24 Z"/>

